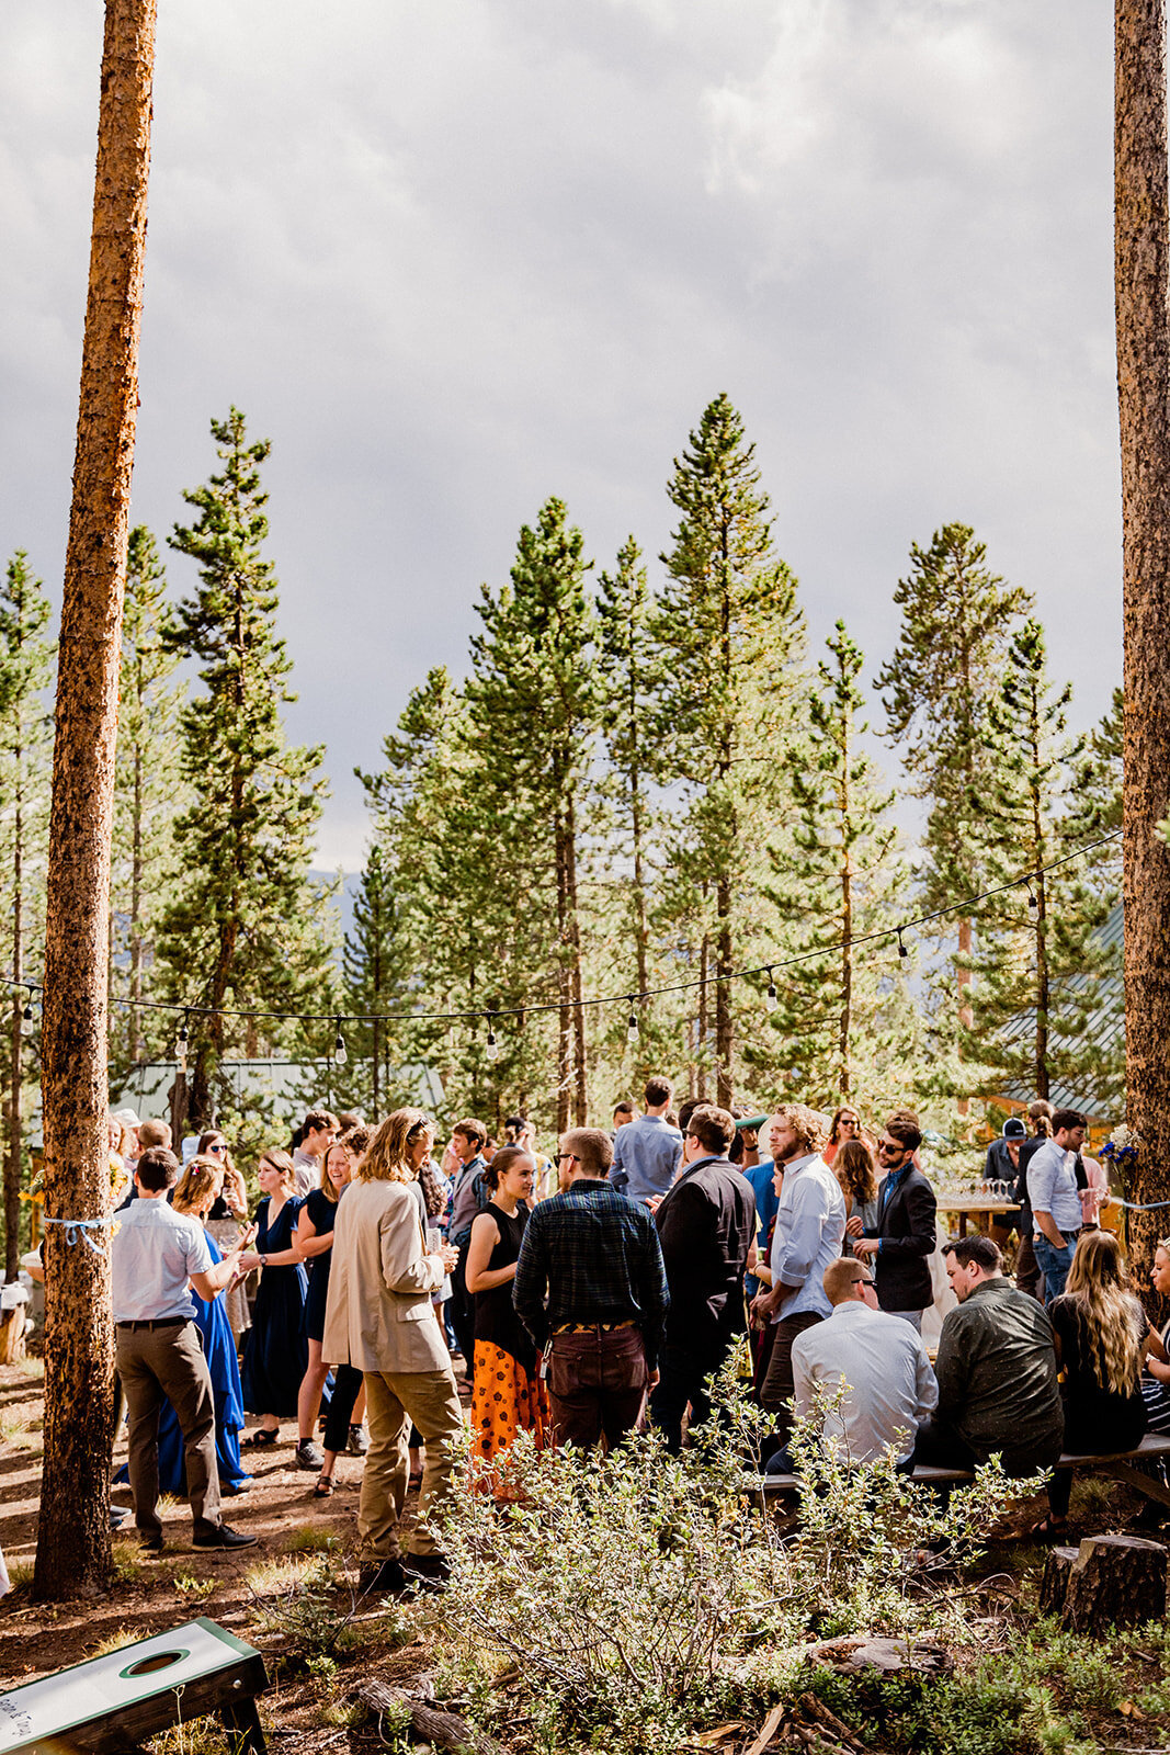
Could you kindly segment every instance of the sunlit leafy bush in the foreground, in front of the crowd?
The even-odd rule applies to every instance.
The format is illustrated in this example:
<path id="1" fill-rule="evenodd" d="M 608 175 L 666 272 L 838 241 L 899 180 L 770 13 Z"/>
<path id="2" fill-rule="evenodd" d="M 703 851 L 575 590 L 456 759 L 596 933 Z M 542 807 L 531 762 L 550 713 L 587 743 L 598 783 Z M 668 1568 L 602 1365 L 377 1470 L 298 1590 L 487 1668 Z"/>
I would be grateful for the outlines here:
<path id="1" fill-rule="evenodd" d="M 942 1508 L 893 1458 L 847 1469 L 805 1427 L 802 1522 L 782 1537 L 744 1486 L 767 1416 L 730 1376 L 716 1397 L 721 1415 L 677 1458 L 653 1432 L 605 1460 L 521 1434 L 498 1501 L 468 1460 L 446 1515 L 442 1622 L 482 1671 L 519 1667 L 533 1718 L 668 1750 L 721 1711 L 754 1651 L 774 1673 L 775 1648 L 798 1657 L 810 1634 L 961 1625 L 968 1599 L 933 1587 L 930 1553 L 974 1551 L 998 1471 Z"/>

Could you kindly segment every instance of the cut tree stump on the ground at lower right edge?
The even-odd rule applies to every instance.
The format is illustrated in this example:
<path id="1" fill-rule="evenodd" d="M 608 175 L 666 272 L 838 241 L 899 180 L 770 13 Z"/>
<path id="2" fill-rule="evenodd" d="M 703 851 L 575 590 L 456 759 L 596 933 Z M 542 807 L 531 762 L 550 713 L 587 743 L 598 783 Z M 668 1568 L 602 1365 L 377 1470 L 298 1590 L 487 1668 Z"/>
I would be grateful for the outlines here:
<path id="1" fill-rule="evenodd" d="M 1040 1581 L 1040 1609 L 1072 1632 L 1137 1627 L 1166 1613 L 1166 1550 L 1138 1536 L 1086 1536 L 1054 1548 Z"/>

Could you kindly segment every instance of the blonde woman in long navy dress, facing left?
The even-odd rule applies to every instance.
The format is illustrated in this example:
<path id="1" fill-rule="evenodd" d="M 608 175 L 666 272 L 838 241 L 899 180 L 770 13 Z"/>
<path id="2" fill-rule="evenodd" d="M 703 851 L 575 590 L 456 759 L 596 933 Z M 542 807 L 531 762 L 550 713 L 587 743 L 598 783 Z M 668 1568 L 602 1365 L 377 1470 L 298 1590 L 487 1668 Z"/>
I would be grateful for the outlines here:
<path id="1" fill-rule="evenodd" d="M 296 1395 L 305 1367 L 305 1293 L 309 1279 L 293 1246 L 302 1202 L 295 1197 L 296 1172 L 288 1151 L 270 1146 L 256 1179 L 265 1199 L 256 1207 L 256 1244 L 240 1257 L 240 1269 L 260 1267 L 260 1290 L 244 1353 L 244 1406 L 260 1425 L 244 1439 L 246 1450 L 265 1450 L 281 1436 L 281 1420 L 296 1418 Z"/>

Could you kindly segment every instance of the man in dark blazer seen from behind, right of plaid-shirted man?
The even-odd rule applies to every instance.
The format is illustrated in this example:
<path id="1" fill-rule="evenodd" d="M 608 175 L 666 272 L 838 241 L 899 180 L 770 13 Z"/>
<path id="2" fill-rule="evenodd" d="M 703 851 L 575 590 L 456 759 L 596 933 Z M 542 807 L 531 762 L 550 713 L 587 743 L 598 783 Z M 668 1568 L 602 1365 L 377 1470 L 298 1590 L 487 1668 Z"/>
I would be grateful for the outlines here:
<path id="1" fill-rule="evenodd" d="M 682 1141 L 682 1169 L 654 1214 L 670 1309 L 649 1413 L 672 1455 L 682 1448 L 686 1404 L 691 1425 L 710 1416 L 705 1379 L 719 1371 L 735 1336 L 746 1332 L 744 1274 L 756 1236 L 756 1199 L 747 1178 L 728 1162 L 733 1137 L 726 1109 L 695 1109 Z"/>

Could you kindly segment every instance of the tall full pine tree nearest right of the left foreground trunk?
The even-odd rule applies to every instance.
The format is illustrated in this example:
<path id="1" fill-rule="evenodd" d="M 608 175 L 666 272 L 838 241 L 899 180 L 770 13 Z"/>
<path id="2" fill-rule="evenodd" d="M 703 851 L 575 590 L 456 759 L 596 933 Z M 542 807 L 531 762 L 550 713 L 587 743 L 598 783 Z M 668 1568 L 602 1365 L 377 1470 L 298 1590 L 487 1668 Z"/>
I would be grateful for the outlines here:
<path id="1" fill-rule="evenodd" d="M 268 441 L 247 442 L 232 409 L 210 423 L 221 469 L 184 491 L 196 511 L 170 546 L 198 563 L 198 590 L 175 609 L 168 641 L 202 665 L 203 691 L 182 709 L 182 772 L 191 804 L 175 821 L 179 876 L 160 923 L 168 995 L 191 1018 L 189 1116 L 214 1120 L 212 1079 L 228 1046 L 249 1055 L 288 1041 L 251 1013 L 332 1009 L 330 923 L 310 881 L 325 779 L 323 751 L 284 739 L 281 706 L 291 660 L 275 634 L 279 607 L 260 465 Z M 244 1013 L 226 1018 L 225 1011 Z"/>

